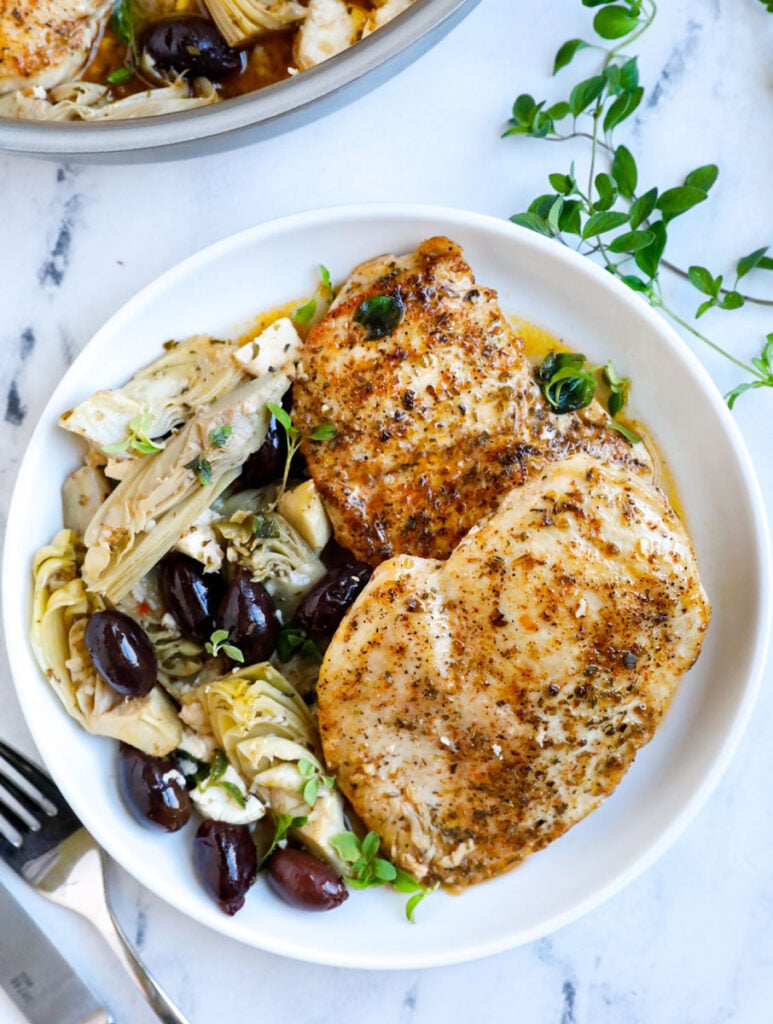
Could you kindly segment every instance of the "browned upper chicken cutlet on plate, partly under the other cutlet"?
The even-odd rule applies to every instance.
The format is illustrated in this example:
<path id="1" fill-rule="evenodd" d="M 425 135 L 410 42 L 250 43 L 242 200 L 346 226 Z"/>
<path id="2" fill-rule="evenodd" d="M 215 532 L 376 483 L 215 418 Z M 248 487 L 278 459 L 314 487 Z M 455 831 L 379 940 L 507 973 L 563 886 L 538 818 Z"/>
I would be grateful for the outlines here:
<path id="1" fill-rule="evenodd" d="M 401 318 L 369 340 L 363 303 L 385 297 Z M 551 413 L 496 292 L 444 238 L 354 270 L 306 339 L 293 420 L 336 425 L 303 452 L 336 540 L 372 564 L 446 558 L 545 459 L 585 450 L 649 471 L 598 403 Z"/>

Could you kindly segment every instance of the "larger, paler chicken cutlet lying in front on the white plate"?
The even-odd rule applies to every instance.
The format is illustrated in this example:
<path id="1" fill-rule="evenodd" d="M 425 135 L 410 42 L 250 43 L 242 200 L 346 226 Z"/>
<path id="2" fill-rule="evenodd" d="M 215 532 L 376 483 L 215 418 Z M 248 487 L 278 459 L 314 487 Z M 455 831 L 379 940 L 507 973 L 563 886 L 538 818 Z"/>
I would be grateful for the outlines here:
<path id="1" fill-rule="evenodd" d="M 446 562 L 376 569 L 321 667 L 328 766 L 396 864 L 481 882 L 614 790 L 708 618 L 647 476 L 585 453 L 547 463 Z"/>

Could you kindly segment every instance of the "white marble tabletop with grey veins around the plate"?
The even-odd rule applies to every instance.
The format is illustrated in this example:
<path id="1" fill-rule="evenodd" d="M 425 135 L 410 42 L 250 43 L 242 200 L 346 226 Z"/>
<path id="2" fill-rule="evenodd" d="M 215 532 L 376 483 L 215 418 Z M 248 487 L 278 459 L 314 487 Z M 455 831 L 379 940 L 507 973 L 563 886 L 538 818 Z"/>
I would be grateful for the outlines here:
<path id="1" fill-rule="evenodd" d="M 719 164 L 711 201 L 675 226 L 673 240 L 677 258 L 729 271 L 731 257 L 773 243 L 773 16 L 758 0 L 670 0 L 662 8 L 638 44 L 648 102 L 630 145 L 654 184 Z M 553 54 L 584 35 L 590 14 L 577 0 L 482 0 L 377 91 L 224 155 L 132 167 L 0 156 L 3 518 L 36 417 L 74 354 L 190 252 L 277 215 L 344 202 L 431 202 L 502 217 L 522 209 L 569 155 L 500 132 L 518 92 L 558 98 Z M 773 297 L 773 282 L 759 278 L 755 292 Z M 684 287 L 671 294 L 685 310 L 694 305 Z M 773 330 L 770 308 L 711 313 L 704 323 L 746 359 Z M 721 390 L 737 381 L 725 360 L 696 351 Z M 773 507 L 773 393 L 741 399 L 735 415 Z M 33 753 L 2 658 L 0 734 Z M 531 945 L 423 972 L 307 966 L 210 933 L 119 874 L 122 921 L 191 1024 L 761 1024 L 773 1019 L 772 683 L 769 666 L 730 769 L 671 851 L 607 904 Z M 0 881 L 117 1021 L 152 1019 L 87 926 L 24 890 L 4 865 Z M 0 1020 L 19 1019 L 0 997 Z"/>

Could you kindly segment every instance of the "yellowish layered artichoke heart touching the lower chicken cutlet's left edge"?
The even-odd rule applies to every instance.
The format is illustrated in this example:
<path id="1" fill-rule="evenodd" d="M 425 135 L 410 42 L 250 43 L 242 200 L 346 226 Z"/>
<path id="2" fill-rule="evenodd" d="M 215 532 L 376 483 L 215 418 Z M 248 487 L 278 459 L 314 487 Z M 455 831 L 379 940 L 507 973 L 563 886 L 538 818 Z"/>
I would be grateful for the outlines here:
<path id="1" fill-rule="evenodd" d="M 274 814 L 305 817 L 295 835 L 343 874 L 346 865 L 330 845 L 331 838 L 346 828 L 343 801 L 338 790 L 325 785 L 312 806 L 304 800 L 309 767 L 321 777 L 325 766 L 316 724 L 294 687 L 264 664 L 205 684 L 196 696 L 218 744 L 250 791 Z"/>

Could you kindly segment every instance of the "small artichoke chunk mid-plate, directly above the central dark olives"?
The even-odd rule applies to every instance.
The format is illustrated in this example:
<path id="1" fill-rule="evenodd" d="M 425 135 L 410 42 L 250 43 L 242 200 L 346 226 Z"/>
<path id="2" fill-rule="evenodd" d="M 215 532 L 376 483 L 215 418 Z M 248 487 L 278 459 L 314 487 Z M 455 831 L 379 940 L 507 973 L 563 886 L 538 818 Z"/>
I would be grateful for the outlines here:
<path id="1" fill-rule="evenodd" d="M 256 528 L 257 524 L 257 528 Z M 263 584 L 289 622 L 303 595 L 321 580 L 326 569 L 311 548 L 284 516 L 255 515 L 245 509 L 215 524 L 226 542 L 226 560 L 238 562 Z"/>

